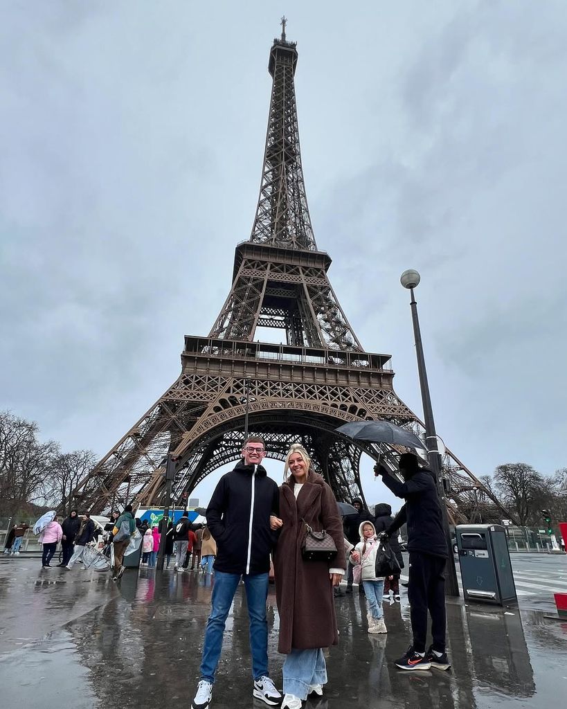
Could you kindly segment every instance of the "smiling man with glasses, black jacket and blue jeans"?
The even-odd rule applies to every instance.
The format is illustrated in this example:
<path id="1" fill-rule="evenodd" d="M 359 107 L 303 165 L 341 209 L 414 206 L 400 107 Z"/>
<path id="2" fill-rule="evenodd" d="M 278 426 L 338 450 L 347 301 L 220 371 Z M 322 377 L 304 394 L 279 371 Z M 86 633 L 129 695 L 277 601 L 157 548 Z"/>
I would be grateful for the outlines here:
<path id="1" fill-rule="evenodd" d="M 274 546 L 270 515 L 279 515 L 279 489 L 260 465 L 265 454 L 262 438 L 249 437 L 242 448 L 242 460 L 220 479 L 207 508 L 207 525 L 217 543 L 215 585 L 203 643 L 201 681 L 192 709 L 210 705 L 225 622 L 240 579 L 245 584 L 250 621 L 252 694 L 271 706 L 281 703 L 281 693 L 268 674 L 266 620 L 270 552 Z"/>

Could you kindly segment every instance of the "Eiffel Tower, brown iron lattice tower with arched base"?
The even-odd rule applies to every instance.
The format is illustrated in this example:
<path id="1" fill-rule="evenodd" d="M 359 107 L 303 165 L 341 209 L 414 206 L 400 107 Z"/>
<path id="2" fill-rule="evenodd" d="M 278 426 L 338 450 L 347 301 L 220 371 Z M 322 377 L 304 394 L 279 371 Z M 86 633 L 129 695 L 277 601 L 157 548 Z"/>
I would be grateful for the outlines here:
<path id="1" fill-rule="evenodd" d="M 186 335 L 181 374 L 96 467 L 75 500 L 91 513 L 127 502 L 162 504 L 167 454 L 177 459 L 173 500 L 240 457 L 244 432 L 283 460 L 301 441 L 338 500 L 364 500 L 359 465 L 366 452 L 395 463 L 401 449 L 356 444 L 335 432 L 347 421 L 386 419 L 424 434 L 393 389 L 388 354 L 366 352 L 328 278 L 309 215 L 294 75 L 296 43 L 282 19 L 268 70 L 272 77 L 262 183 L 249 240 L 235 250 L 232 288 L 207 337 Z M 254 340 L 276 328 L 286 344 Z M 284 338 L 282 337 L 282 340 Z M 453 522 L 500 518 L 505 510 L 454 455 L 444 455 Z"/>

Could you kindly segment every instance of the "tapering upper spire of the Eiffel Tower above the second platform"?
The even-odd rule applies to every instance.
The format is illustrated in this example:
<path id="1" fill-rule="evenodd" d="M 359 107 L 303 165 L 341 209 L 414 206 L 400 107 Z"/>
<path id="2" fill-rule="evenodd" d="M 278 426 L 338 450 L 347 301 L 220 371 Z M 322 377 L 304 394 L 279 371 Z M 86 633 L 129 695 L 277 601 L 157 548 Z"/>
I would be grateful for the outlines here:
<path id="1" fill-rule="evenodd" d="M 317 251 L 309 215 L 293 77 L 297 66 L 295 42 L 286 40 L 285 17 L 281 38 L 274 39 L 268 71 L 271 86 L 262 183 L 250 241 L 300 251 Z"/>

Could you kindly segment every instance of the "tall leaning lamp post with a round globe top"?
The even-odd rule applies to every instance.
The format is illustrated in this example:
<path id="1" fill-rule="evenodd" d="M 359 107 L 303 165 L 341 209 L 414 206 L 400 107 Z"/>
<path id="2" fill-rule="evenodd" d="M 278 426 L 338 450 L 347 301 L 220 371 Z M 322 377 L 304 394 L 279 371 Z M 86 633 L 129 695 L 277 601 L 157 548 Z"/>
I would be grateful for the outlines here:
<path id="1" fill-rule="evenodd" d="M 435 422 L 433 420 L 433 409 L 431 406 L 430 387 L 427 383 L 427 371 L 425 369 L 425 357 L 423 356 L 423 345 L 421 341 L 420 320 L 417 317 L 417 302 L 415 301 L 414 289 L 417 288 L 421 280 L 420 274 L 414 269 L 404 271 L 400 277 L 400 283 L 407 288 L 411 294 L 410 307 L 412 309 L 413 336 L 415 338 L 415 354 L 417 357 L 417 372 L 420 376 L 421 400 L 423 406 L 423 418 L 425 419 L 425 441 L 429 451 L 429 461 L 432 472 L 437 481 L 437 492 L 441 501 L 443 515 L 443 526 L 445 530 L 445 540 L 447 542 L 447 585 L 445 593 L 447 596 L 459 596 L 459 584 L 456 580 L 455 558 L 453 556 L 453 543 L 451 542 L 451 530 L 449 530 L 449 518 L 447 516 L 447 500 L 445 499 L 445 489 L 442 478 L 442 460 L 439 454 L 439 444 L 435 432 Z"/>

